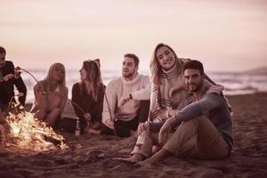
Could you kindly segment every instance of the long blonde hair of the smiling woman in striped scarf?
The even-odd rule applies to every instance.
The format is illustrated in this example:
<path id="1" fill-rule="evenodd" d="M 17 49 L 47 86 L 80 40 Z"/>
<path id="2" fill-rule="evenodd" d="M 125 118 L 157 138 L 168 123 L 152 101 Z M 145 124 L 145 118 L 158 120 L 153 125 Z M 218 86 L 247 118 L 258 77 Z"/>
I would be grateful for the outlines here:
<path id="1" fill-rule="evenodd" d="M 153 85 L 161 85 L 159 74 L 162 71 L 162 67 L 160 66 L 158 59 L 157 59 L 157 52 L 158 49 L 161 47 L 167 47 L 173 54 L 175 61 L 179 61 L 176 53 L 174 52 L 173 48 L 171 48 L 167 44 L 158 44 L 154 50 L 154 53 L 152 54 L 152 58 L 150 60 L 150 72 L 151 72 L 151 82 Z"/>

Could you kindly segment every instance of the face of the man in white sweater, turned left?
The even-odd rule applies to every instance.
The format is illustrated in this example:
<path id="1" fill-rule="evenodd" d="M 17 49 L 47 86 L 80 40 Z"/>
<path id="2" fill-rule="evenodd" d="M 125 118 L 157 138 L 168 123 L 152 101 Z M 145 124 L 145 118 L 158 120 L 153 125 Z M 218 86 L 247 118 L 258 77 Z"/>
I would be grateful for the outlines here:
<path id="1" fill-rule="evenodd" d="M 127 79 L 133 79 L 137 74 L 138 66 L 135 65 L 134 59 L 125 57 L 122 67 L 122 76 Z"/>

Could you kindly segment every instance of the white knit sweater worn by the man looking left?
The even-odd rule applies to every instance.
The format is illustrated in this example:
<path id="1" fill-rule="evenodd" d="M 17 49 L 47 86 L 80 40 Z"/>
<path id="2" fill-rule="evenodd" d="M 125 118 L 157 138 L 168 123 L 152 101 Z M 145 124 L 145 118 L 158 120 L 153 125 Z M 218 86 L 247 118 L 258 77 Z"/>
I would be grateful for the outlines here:
<path id="1" fill-rule="evenodd" d="M 134 100 L 125 102 L 118 108 L 118 101 L 121 97 L 132 94 Z M 150 100 L 150 77 L 137 74 L 131 81 L 125 77 L 119 77 L 109 82 L 104 98 L 102 123 L 106 120 L 129 121 L 137 116 L 141 100 Z M 107 103 L 108 101 L 108 103 Z M 112 118 L 110 118 L 110 115 Z"/>

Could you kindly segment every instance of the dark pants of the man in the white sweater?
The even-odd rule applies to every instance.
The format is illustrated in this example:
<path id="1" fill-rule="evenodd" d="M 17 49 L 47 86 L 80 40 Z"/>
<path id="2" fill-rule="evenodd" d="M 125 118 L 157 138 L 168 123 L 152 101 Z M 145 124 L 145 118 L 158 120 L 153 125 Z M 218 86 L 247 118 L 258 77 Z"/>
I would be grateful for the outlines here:
<path id="1" fill-rule="evenodd" d="M 117 120 L 114 122 L 114 129 L 110 129 L 106 125 L 101 125 L 101 134 L 108 134 L 120 137 L 131 136 L 131 130 L 136 131 L 139 123 L 148 120 L 150 110 L 150 101 L 140 101 L 140 108 L 138 109 L 137 116 L 130 121 Z"/>

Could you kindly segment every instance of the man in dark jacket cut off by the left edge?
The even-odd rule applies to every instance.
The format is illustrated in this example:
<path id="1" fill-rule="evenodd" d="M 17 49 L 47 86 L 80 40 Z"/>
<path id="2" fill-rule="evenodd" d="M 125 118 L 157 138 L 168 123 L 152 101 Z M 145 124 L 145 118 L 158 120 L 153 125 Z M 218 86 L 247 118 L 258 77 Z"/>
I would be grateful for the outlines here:
<path id="1" fill-rule="evenodd" d="M 19 93 L 23 93 L 19 97 L 20 104 L 24 106 L 27 94 L 27 88 L 20 75 L 15 72 L 12 61 L 5 61 L 4 47 L 0 46 L 0 111 L 6 111 L 9 102 L 14 95 L 14 85 Z"/>

